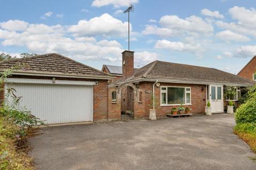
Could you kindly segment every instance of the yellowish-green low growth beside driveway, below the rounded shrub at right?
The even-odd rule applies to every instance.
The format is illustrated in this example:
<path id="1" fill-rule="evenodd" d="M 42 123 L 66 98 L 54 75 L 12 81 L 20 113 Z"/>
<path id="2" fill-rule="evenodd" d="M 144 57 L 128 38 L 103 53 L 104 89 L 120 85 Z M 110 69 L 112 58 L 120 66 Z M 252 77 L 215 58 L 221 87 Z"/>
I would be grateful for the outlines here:
<path id="1" fill-rule="evenodd" d="M 239 123 L 235 126 L 234 133 L 256 153 L 256 123 Z"/>

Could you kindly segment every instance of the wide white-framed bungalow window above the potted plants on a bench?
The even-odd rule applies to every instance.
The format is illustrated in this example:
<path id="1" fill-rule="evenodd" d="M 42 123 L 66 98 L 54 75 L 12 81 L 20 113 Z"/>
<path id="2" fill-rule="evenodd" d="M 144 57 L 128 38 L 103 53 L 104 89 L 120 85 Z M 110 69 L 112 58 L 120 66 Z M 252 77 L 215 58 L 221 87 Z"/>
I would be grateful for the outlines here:
<path id="1" fill-rule="evenodd" d="M 191 104 L 190 87 L 161 87 L 161 105 Z"/>

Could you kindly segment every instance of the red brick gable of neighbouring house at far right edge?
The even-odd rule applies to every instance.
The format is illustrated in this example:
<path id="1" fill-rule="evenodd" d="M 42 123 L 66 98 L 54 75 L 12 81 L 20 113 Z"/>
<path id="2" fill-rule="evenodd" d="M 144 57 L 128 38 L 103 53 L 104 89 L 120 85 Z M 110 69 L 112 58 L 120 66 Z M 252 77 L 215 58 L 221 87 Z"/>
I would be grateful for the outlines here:
<path id="1" fill-rule="evenodd" d="M 252 59 L 243 67 L 237 75 L 240 77 L 249 79 L 249 80 L 254 80 L 256 81 L 256 56 L 252 57 Z"/>

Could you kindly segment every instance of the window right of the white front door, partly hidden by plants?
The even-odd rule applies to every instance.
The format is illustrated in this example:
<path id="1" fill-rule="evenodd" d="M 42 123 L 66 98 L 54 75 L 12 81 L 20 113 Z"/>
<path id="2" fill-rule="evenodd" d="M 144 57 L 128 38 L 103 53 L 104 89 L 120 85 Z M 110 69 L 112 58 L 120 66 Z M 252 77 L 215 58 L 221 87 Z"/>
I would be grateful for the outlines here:
<path id="1" fill-rule="evenodd" d="M 238 100 L 241 96 L 241 88 L 234 86 L 224 86 L 223 94 L 226 100 Z"/>

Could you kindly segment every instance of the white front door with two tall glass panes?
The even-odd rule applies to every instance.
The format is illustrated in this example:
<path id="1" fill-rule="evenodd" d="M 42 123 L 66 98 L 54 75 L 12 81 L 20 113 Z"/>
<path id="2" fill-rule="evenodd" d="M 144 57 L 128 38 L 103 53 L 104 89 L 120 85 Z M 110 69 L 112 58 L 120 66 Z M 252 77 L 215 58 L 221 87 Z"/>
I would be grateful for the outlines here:
<path id="1" fill-rule="evenodd" d="M 212 112 L 223 112 L 223 86 L 210 85 L 210 101 Z"/>

